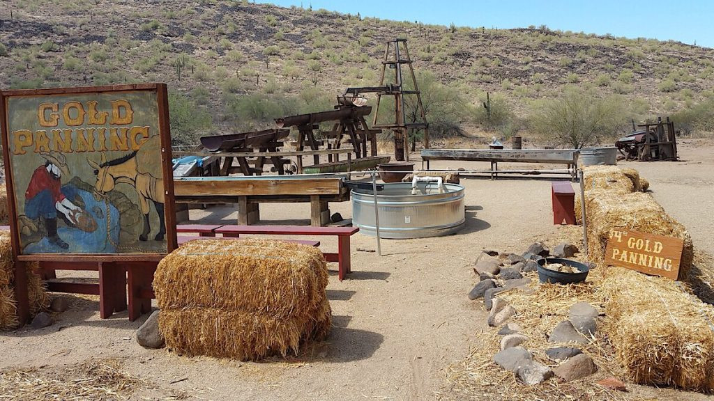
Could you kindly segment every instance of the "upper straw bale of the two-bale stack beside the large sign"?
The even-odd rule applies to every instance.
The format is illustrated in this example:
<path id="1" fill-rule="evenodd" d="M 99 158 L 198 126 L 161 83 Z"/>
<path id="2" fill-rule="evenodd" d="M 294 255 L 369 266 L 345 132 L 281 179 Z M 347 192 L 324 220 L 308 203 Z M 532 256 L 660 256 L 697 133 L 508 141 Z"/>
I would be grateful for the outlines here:
<path id="1" fill-rule="evenodd" d="M 307 313 L 324 298 L 328 273 L 319 249 L 273 240 L 196 240 L 161 260 L 159 308 Z"/>

